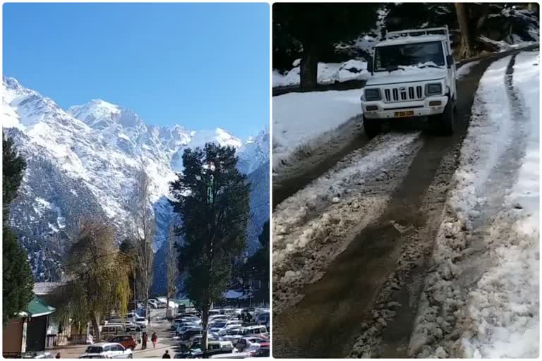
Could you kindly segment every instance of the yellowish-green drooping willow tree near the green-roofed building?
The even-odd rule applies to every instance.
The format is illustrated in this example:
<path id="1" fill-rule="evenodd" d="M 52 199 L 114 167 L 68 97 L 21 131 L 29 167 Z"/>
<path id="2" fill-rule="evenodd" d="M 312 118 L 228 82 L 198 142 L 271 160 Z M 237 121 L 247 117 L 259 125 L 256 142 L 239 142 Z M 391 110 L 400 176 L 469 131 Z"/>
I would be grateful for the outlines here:
<path id="1" fill-rule="evenodd" d="M 111 226 L 95 219 L 80 221 L 79 232 L 68 250 L 66 279 L 54 297 L 64 321 L 92 323 L 100 341 L 100 318 L 112 311 L 126 314 L 131 297 L 129 264 L 114 243 Z"/>

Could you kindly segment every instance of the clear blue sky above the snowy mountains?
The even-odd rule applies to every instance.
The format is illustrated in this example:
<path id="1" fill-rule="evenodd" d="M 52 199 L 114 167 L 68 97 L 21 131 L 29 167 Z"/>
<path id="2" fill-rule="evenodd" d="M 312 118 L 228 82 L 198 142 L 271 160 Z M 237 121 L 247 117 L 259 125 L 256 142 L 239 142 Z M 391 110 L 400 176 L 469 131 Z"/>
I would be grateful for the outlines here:
<path id="1" fill-rule="evenodd" d="M 4 75 L 67 109 L 104 99 L 147 123 L 269 125 L 267 4 L 4 4 Z"/>

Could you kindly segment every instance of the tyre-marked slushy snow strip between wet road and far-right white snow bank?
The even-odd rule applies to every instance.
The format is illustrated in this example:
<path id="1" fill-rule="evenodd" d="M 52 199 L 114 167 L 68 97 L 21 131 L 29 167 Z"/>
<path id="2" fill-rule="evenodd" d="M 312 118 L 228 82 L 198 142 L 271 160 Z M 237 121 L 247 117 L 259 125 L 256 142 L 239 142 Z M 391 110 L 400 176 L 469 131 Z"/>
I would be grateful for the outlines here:
<path id="1" fill-rule="evenodd" d="M 410 357 L 465 357 L 462 332 L 469 334 L 473 329 L 466 300 L 491 265 L 487 257 L 488 244 L 495 236 L 491 227 L 517 180 L 526 147 L 526 119 L 513 86 L 514 58 L 496 61 L 485 74 L 488 79 L 481 95 L 477 94 L 471 134 L 464 141 L 438 232 L 435 267 L 426 279 Z M 500 66 L 506 63 L 504 76 L 499 78 Z M 498 104 L 505 109 L 490 108 L 488 103 L 494 105 L 495 99 L 502 99 L 504 104 Z"/>

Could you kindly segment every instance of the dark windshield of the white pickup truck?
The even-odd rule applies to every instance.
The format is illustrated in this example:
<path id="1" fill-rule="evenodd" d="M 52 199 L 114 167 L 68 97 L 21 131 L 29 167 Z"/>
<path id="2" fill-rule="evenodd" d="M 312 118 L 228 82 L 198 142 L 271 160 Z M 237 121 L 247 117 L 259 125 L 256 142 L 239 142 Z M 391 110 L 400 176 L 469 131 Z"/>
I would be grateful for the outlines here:
<path id="1" fill-rule="evenodd" d="M 406 66 L 444 66 L 441 42 L 421 42 L 375 47 L 375 71 L 395 71 Z"/>

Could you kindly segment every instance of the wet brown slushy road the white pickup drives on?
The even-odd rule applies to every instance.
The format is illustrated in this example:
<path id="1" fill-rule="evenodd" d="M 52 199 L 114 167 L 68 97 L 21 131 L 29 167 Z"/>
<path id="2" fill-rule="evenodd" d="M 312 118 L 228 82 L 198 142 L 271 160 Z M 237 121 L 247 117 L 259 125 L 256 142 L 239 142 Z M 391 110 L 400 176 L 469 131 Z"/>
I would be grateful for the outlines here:
<path id="1" fill-rule="evenodd" d="M 330 243 L 333 247 L 344 245 L 344 252 L 334 254 L 334 259 L 328 264 L 321 262 L 318 256 L 310 256 L 312 261 L 303 259 L 299 253 L 287 258 L 284 268 L 274 263 L 273 302 L 274 310 L 278 312 L 273 317 L 275 357 L 407 356 L 418 298 L 442 219 L 445 194 L 457 166 L 457 151 L 469 125 L 474 94 L 488 65 L 505 55 L 510 54 L 481 60 L 471 68 L 469 75 L 458 80 L 454 135 L 419 135 L 416 140 L 419 147 L 412 149 L 412 158 L 397 163 L 399 168 L 406 167 L 404 174 L 400 174 L 397 187 L 389 195 L 377 192 L 387 202 L 383 209 L 373 212 L 375 216 L 369 217 L 368 224 L 351 225 L 356 232 L 352 235 L 341 233 L 344 240 L 332 239 L 337 234 L 333 229 L 320 237 L 326 238 L 322 247 Z M 369 142 L 362 137 L 357 144 L 361 148 L 378 149 L 378 142 L 389 140 L 390 137 L 380 136 Z M 343 151 L 331 154 L 321 162 L 323 166 L 317 164 L 314 169 L 300 172 L 301 176 L 290 183 L 282 183 L 284 186 L 280 187 L 277 202 L 274 185 L 275 206 L 319 177 L 326 175 L 329 178 L 330 173 L 337 173 L 332 167 L 344 160 L 340 156 L 349 157 L 351 147 L 347 145 Z M 325 207 L 337 206 L 330 204 Z M 276 209 L 280 220 L 284 206 Z M 327 211 L 327 208 L 316 212 L 323 210 Z M 354 209 L 351 211 L 356 212 Z M 371 209 L 367 212 L 371 213 Z M 308 224 L 315 218 L 317 215 L 313 214 L 303 221 Z M 301 234 L 306 235 L 307 232 L 299 231 Z M 287 235 L 282 237 L 286 239 Z M 277 247 L 281 247 L 280 243 Z M 278 282 L 287 269 L 299 264 L 303 265 L 303 271 L 308 272 L 309 263 L 312 263 L 310 268 L 315 275 L 313 281 L 316 281 L 292 281 L 294 286 L 288 286 L 285 281 Z M 308 272 L 306 280 L 310 280 L 310 276 Z M 287 297 L 286 294 L 292 292 L 296 296 Z M 371 333 L 377 331 L 380 335 L 378 344 L 371 338 Z M 361 334 L 367 338 L 359 340 Z"/>

